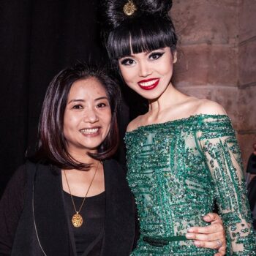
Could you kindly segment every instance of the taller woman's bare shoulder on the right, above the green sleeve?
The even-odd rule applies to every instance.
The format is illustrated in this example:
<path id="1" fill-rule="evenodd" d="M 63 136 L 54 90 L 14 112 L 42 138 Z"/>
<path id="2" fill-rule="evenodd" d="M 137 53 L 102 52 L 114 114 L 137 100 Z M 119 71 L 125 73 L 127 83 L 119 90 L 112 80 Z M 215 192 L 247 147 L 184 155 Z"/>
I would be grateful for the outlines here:
<path id="1" fill-rule="evenodd" d="M 195 114 L 206 114 L 206 115 L 227 115 L 222 105 L 217 102 L 213 102 L 208 99 L 198 99 L 197 108 Z"/>

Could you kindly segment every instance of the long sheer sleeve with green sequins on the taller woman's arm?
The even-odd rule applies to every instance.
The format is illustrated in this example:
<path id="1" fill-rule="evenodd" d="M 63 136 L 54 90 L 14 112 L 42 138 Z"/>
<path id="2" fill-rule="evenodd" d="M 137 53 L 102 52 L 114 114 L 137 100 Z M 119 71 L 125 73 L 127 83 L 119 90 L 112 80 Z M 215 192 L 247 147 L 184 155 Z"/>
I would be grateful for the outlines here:
<path id="1" fill-rule="evenodd" d="M 256 255 L 255 233 L 246 197 L 241 154 L 227 116 L 211 120 L 197 133 L 198 146 L 211 173 L 219 213 L 231 255 Z"/>

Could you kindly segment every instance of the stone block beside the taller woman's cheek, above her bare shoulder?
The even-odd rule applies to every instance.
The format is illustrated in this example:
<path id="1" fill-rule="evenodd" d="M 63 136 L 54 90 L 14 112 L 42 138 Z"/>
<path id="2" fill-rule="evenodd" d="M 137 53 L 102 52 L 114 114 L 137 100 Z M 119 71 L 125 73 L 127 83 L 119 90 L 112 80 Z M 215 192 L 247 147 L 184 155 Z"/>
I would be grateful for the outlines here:
<path id="1" fill-rule="evenodd" d="M 184 85 L 236 86 L 238 49 L 223 45 L 186 45 L 178 49 L 173 83 Z"/>

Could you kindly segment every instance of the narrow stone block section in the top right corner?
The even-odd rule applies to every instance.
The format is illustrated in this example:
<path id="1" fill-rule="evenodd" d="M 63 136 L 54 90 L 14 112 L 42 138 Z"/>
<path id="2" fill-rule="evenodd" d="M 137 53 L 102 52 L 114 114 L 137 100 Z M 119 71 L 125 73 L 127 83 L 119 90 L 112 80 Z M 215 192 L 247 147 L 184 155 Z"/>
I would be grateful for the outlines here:
<path id="1" fill-rule="evenodd" d="M 239 42 L 256 36 L 256 1 L 243 0 L 239 6 Z"/>

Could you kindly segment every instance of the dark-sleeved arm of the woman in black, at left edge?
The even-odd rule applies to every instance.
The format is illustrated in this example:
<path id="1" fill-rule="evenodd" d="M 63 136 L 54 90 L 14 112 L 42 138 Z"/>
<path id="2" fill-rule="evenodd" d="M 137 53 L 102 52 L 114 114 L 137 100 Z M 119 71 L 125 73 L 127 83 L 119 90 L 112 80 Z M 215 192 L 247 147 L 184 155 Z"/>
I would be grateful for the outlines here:
<path id="1" fill-rule="evenodd" d="M 11 255 L 25 189 L 26 168 L 22 166 L 12 176 L 0 200 L 0 255 Z"/>

